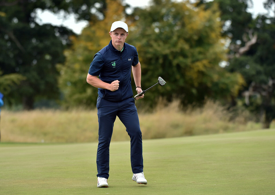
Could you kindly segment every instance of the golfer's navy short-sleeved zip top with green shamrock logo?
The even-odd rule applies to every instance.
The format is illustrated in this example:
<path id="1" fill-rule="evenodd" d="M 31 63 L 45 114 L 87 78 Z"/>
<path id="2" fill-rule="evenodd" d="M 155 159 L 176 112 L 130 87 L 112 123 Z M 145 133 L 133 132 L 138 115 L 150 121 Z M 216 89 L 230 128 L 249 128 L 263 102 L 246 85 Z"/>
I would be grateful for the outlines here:
<path id="1" fill-rule="evenodd" d="M 123 50 L 118 51 L 112 40 L 94 56 L 89 74 L 99 76 L 103 82 L 111 83 L 119 80 L 119 88 L 115 91 L 98 88 L 98 95 L 108 101 L 122 101 L 133 97 L 131 87 L 131 68 L 139 62 L 137 49 L 124 43 Z"/>

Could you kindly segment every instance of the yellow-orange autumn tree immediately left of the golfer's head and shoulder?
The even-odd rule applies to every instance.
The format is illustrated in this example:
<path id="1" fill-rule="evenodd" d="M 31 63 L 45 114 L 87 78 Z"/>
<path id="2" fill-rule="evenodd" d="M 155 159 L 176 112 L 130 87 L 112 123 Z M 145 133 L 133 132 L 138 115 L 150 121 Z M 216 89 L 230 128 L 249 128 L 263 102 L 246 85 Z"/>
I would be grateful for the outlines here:
<path id="1" fill-rule="evenodd" d="M 87 84 L 88 70 L 93 56 L 109 44 L 109 31 L 113 21 L 125 18 L 125 7 L 120 0 L 107 0 L 106 3 L 104 19 L 99 22 L 91 21 L 80 36 L 70 37 L 72 47 L 65 51 L 64 65 L 59 66 L 59 87 L 64 95 L 62 103 L 65 107 L 96 105 L 97 88 Z"/>

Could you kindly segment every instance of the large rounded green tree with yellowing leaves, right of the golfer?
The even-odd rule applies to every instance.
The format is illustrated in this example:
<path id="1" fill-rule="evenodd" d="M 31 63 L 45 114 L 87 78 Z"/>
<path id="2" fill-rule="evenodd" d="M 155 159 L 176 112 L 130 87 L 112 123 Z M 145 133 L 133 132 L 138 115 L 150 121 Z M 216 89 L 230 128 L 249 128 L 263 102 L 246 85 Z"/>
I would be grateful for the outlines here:
<path id="1" fill-rule="evenodd" d="M 154 0 L 147 9 L 135 9 L 132 42 L 142 64 L 142 86 L 150 86 L 158 76 L 167 82 L 146 94 L 151 105 L 158 96 L 190 104 L 237 95 L 242 77 L 219 66 L 226 50 L 218 19 L 215 5 L 205 10 L 188 2 Z"/>

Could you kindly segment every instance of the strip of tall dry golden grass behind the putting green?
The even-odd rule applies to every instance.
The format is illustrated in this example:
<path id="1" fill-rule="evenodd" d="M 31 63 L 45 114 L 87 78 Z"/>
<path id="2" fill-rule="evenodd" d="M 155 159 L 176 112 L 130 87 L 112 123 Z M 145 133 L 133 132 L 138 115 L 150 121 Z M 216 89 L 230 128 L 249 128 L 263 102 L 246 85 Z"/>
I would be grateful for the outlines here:
<path id="1" fill-rule="evenodd" d="M 181 137 L 234 131 L 256 130 L 260 123 L 248 121 L 246 113 L 235 120 L 232 113 L 213 102 L 203 108 L 179 109 L 174 101 L 167 107 L 159 105 L 153 112 L 139 110 L 143 139 Z M 272 123 L 272 127 L 275 124 Z M 1 111 L 3 142 L 96 142 L 97 110 L 34 110 Z M 124 125 L 115 121 L 113 141 L 129 140 Z"/>

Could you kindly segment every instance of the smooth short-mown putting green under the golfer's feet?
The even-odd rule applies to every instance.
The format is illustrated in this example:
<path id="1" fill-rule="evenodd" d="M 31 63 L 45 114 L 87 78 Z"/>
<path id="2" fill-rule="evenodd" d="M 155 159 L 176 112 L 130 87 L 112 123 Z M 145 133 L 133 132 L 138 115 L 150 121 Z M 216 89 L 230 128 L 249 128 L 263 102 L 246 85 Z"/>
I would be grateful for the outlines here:
<path id="1" fill-rule="evenodd" d="M 143 141 L 148 185 L 131 180 L 129 141 L 110 146 L 97 188 L 97 143 L 0 143 L 0 194 L 275 194 L 275 130 Z"/>

